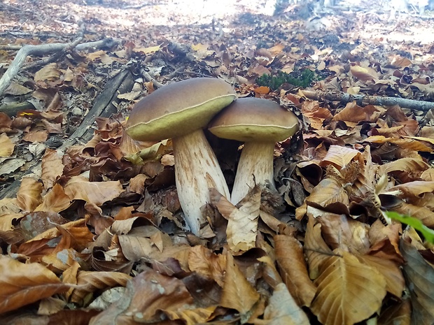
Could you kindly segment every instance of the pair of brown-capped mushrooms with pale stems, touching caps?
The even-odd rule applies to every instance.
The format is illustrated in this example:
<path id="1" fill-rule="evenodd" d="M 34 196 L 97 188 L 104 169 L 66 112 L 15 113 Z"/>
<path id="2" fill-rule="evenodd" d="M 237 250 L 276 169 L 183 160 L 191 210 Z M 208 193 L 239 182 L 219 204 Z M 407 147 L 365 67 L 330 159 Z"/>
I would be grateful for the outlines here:
<path id="1" fill-rule="evenodd" d="M 274 187 L 274 144 L 298 129 L 297 117 L 273 101 L 235 99 L 235 90 L 224 80 L 183 80 L 141 99 L 127 121 L 126 131 L 136 140 L 172 138 L 179 202 L 196 235 L 204 222 L 200 208 L 209 202 L 209 188 L 237 204 L 255 184 Z M 204 136 L 207 126 L 220 138 L 244 141 L 232 196 Z"/>

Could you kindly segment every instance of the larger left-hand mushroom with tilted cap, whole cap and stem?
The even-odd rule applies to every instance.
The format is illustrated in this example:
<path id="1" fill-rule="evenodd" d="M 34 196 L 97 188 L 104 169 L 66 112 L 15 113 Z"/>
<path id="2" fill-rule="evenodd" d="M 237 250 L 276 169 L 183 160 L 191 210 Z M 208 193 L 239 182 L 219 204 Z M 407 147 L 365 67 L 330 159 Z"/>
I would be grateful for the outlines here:
<path id="1" fill-rule="evenodd" d="M 221 79 L 174 82 L 137 102 L 125 127 L 136 140 L 172 138 L 179 202 L 190 231 L 196 235 L 205 221 L 200 208 L 209 202 L 209 188 L 230 197 L 203 128 L 236 97 L 235 90 Z"/>

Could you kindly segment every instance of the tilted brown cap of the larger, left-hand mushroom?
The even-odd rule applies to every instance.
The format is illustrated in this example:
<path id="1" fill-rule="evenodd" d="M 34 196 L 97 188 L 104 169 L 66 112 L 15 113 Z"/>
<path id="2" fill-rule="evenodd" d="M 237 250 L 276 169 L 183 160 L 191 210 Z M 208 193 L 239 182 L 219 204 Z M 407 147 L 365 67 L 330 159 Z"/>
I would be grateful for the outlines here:
<path id="1" fill-rule="evenodd" d="M 193 78 L 162 87 L 137 102 L 125 129 L 136 140 L 158 141 L 206 127 L 237 97 L 222 79 Z"/>

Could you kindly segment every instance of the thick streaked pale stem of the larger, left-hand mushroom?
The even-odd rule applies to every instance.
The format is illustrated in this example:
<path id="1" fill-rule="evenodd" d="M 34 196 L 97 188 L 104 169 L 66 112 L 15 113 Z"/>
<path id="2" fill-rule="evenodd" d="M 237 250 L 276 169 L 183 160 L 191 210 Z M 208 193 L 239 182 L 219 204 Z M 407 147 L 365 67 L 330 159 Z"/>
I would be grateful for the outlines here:
<path id="1" fill-rule="evenodd" d="M 172 138 L 172 143 L 179 202 L 190 231 L 198 235 L 205 222 L 200 208 L 209 203 L 209 188 L 214 187 L 226 198 L 230 192 L 202 129 Z"/>

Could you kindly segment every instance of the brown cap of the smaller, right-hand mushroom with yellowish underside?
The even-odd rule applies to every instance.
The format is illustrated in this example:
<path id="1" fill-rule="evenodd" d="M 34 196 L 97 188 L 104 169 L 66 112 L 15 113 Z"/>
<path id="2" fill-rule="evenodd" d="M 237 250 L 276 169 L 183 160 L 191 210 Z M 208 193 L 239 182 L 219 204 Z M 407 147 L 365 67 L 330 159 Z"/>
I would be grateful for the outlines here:
<path id="1" fill-rule="evenodd" d="M 267 99 L 237 99 L 209 124 L 219 138 L 239 141 L 277 142 L 298 131 L 294 113 Z"/>

